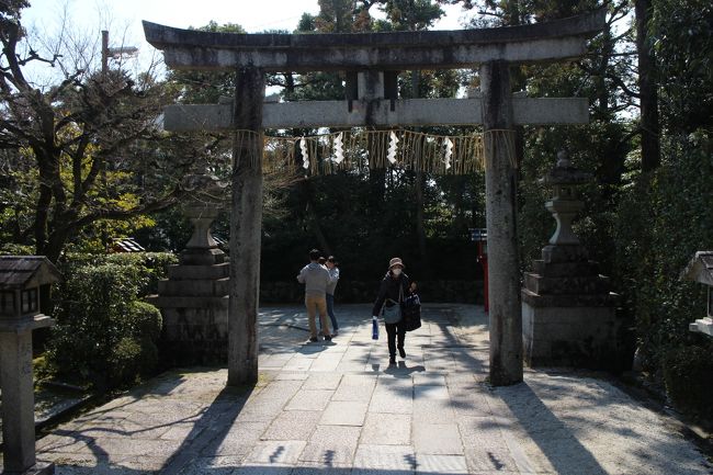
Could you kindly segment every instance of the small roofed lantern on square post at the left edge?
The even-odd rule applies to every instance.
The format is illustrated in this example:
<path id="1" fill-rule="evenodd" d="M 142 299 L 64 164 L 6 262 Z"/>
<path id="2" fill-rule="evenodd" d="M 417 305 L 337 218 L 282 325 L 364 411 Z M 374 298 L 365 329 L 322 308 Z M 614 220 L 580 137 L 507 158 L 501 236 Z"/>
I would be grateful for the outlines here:
<path id="1" fill-rule="evenodd" d="M 0 383 L 3 474 L 52 474 L 36 463 L 32 330 L 55 320 L 39 313 L 39 287 L 59 281 L 42 256 L 0 257 Z"/>

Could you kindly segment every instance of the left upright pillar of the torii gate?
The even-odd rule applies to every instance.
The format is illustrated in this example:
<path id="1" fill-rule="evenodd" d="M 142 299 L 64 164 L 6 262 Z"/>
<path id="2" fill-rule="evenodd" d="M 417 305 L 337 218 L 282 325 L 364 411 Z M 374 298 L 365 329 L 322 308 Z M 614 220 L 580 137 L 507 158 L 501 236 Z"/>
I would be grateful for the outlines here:
<path id="1" fill-rule="evenodd" d="M 235 89 L 228 386 L 258 381 L 258 301 L 262 234 L 261 69 L 238 69 Z"/>

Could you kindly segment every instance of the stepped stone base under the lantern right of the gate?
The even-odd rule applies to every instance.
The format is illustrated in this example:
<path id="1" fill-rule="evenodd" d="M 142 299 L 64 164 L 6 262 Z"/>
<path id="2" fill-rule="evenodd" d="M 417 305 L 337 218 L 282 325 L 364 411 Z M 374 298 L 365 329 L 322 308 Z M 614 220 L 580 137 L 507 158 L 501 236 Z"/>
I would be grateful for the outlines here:
<path id="1" fill-rule="evenodd" d="M 522 289 L 523 358 L 530 366 L 618 370 L 618 296 L 584 247 L 547 246 Z"/>

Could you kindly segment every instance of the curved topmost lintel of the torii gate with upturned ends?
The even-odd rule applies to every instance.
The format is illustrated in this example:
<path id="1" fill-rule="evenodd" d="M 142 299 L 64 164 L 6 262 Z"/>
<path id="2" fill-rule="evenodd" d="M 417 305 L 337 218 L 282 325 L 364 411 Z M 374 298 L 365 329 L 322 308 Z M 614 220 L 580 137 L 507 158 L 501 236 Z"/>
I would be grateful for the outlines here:
<path id="1" fill-rule="evenodd" d="M 347 34 L 212 33 L 145 21 L 144 32 L 174 69 L 457 69 L 491 60 L 527 64 L 579 57 L 586 41 L 603 29 L 604 15 L 600 9 L 521 26 Z"/>

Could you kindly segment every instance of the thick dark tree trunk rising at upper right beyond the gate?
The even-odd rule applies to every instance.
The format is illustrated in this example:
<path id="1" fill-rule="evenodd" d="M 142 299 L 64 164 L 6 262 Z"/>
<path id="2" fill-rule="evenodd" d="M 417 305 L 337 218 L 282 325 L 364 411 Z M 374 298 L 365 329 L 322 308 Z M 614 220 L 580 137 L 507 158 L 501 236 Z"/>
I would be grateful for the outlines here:
<path id="1" fill-rule="evenodd" d="M 641 104 L 642 171 L 655 170 L 661 162 L 658 121 L 656 58 L 650 47 L 648 22 L 650 1 L 635 0 L 636 50 L 638 53 L 638 93 Z"/>

